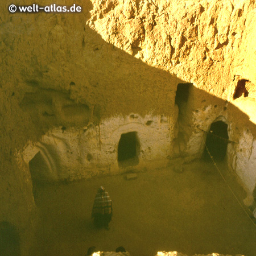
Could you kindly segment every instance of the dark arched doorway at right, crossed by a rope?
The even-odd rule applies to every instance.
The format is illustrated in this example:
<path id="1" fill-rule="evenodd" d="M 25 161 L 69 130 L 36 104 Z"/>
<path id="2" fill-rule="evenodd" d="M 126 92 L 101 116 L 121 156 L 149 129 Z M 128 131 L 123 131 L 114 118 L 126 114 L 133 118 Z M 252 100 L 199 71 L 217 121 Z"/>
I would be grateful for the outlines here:
<path id="1" fill-rule="evenodd" d="M 210 160 L 211 155 L 214 160 L 224 160 L 228 139 L 228 125 L 222 121 L 212 123 L 205 142 L 204 159 Z"/>

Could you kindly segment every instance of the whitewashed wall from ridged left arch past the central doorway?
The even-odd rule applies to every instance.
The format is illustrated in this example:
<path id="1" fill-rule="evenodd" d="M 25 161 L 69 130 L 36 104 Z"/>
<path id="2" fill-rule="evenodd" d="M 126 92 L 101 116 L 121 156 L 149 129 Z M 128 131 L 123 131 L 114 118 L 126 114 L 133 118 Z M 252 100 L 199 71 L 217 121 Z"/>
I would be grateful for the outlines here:
<path id="1" fill-rule="evenodd" d="M 81 179 L 97 175 L 122 172 L 118 167 L 118 143 L 121 134 L 135 131 L 140 144 L 139 163 L 134 168 L 142 170 L 164 167 L 172 154 L 172 141 L 176 136 L 176 120 L 163 115 L 130 114 L 104 119 L 100 125 L 92 123 L 78 129 L 55 127 L 45 134 L 40 143 L 55 162 L 51 176 L 58 179 Z M 31 144 L 23 151 L 26 162 L 35 155 Z M 35 151 L 36 152 L 36 151 Z M 29 157 L 31 155 L 31 157 Z"/>

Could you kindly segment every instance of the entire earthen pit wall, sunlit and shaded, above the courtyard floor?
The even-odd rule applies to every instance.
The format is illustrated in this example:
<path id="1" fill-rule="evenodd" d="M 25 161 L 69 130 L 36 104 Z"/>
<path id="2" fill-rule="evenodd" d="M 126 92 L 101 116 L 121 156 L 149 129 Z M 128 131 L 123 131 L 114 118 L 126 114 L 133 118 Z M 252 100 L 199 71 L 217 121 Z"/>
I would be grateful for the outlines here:
<path id="1" fill-rule="evenodd" d="M 19 230 L 22 255 L 35 226 L 32 180 L 198 158 L 208 134 L 220 135 L 214 122 L 227 125 L 223 154 L 252 204 L 255 1 L 76 4 L 81 13 L 11 14 L 0 4 L 0 220 Z"/>

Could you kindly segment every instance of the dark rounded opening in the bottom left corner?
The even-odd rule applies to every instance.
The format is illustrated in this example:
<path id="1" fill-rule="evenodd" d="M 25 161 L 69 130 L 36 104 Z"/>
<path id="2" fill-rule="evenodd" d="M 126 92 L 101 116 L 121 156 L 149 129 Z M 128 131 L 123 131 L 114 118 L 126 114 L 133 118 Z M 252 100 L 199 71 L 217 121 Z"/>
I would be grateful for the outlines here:
<path id="1" fill-rule="evenodd" d="M 19 234 L 7 221 L 0 223 L 0 255 L 20 256 Z"/>

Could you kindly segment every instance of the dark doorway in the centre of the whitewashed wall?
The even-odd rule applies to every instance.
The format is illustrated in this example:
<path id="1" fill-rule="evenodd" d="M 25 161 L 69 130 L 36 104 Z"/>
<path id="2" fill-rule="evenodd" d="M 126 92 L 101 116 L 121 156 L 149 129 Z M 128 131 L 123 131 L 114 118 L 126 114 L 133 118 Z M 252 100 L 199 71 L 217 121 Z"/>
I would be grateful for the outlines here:
<path id="1" fill-rule="evenodd" d="M 131 131 L 121 135 L 118 143 L 118 165 L 122 167 L 135 166 L 139 163 L 139 141 L 137 132 Z"/>

